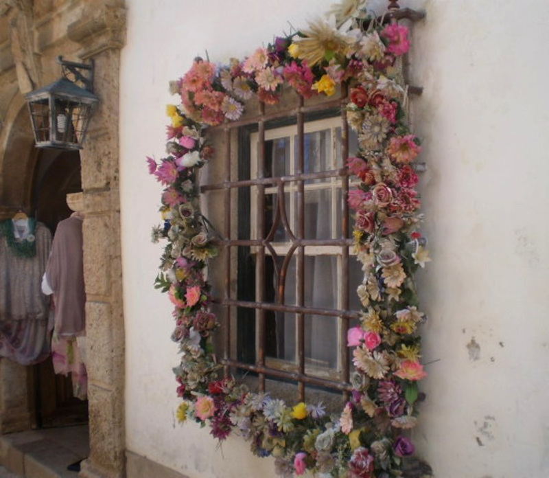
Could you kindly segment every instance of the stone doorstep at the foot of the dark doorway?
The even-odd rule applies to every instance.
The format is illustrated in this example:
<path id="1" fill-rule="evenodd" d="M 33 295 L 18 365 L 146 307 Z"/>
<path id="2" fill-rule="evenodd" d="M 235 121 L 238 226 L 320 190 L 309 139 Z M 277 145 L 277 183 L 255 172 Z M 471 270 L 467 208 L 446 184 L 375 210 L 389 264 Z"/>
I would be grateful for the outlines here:
<path id="1" fill-rule="evenodd" d="M 24 478 L 78 478 L 67 466 L 88 451 L 87 426 L 0 436 L 0 464 Z"/>

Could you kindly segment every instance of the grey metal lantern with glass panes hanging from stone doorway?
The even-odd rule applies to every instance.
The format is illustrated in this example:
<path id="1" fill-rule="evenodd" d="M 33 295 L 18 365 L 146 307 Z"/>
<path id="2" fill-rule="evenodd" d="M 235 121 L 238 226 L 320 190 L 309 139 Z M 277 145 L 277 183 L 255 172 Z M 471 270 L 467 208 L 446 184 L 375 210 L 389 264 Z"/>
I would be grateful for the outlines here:
<path id="1" fill-rule="evenodd" d="M 93 109 L 99 102 L 92 92 L 93 62 L 89 65 L 69 62 L 61 56 L 58 62 L 62 65 L 62 78 L 26 95 L 34 140 L 38 148 L 79 150 Z M 88 78 L 82 75 L 81 69 L 90 71 Z"/>

